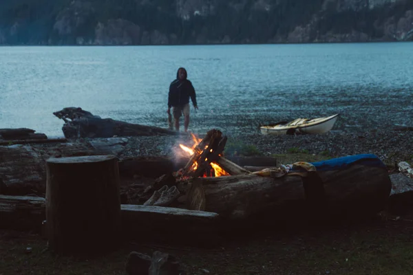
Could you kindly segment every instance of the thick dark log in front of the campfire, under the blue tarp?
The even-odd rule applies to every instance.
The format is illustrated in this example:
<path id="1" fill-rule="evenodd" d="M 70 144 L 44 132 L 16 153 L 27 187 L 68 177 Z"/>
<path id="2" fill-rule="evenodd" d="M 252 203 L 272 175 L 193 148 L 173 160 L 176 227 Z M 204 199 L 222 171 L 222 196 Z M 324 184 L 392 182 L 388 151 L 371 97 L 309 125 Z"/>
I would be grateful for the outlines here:
<path id="1" fill-rule="evenodd" d="M 268 212 L 279 219 L 376 213 L 388 203 L 392 185 L 384 168 L 354 164 L 344 170 L 307 173 L 306 177 L 196 178 L 187 188 L 187 203 L 200 210 L 231 219 Z"/>

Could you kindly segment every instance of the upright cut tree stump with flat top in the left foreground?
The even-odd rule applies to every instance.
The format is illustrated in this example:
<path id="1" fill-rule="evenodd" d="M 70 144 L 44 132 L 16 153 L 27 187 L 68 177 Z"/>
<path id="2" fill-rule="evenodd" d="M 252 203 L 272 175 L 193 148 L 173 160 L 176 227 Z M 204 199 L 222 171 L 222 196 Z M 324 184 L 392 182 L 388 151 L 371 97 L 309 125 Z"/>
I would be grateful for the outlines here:
<path id="1" fill-rule="evenodd" d="M 114 250 L 120 236 L 118 159 L 50 158 L 46 166 L 49 248 L 71 255 Z"/>

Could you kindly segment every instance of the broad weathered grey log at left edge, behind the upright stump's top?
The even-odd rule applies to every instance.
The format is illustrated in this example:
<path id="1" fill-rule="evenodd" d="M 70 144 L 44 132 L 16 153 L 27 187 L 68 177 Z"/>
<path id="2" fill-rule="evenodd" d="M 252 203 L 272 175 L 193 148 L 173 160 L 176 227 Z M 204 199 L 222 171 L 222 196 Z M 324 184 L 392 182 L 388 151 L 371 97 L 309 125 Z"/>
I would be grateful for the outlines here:
<path id="1" fill-rule="evenodd" d="M 49 157 L 118 155 L 126 144 L 126 138 L 118 137 L 84 142 L 0 146 L 0 181 L 3 181 L 0 193 L 3 195 L 44 193 L 45 161 Z"/>

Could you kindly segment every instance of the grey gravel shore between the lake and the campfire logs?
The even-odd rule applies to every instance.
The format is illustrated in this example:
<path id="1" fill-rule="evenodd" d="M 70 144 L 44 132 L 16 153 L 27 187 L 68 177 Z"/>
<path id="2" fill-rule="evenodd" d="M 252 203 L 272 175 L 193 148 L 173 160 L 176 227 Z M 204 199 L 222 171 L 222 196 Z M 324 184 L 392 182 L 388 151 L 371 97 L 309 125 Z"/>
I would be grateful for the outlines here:
<path id="1" fill-rule="evenodd" d="M 223 133 L 226 135 L 226 133 Z M 204 133 L 199 133 L 202 138 Z M 191 137 L 153 136 L 129 137 L 124 157 L 132 155 L 173 155 L 179 144 L 191 146 Z M 324 135 L 228 135 L 228 142 L 255 146 L 264 155 L 303 151 L 309 154 L 324 153 L 342 157 L 371 153 L 383 162 L 409 161 L 413 158 L 413 131 L 380 130 L 357 133 L 330 131 Z M 178 149 L 179 151 L 179 149 Z"/>

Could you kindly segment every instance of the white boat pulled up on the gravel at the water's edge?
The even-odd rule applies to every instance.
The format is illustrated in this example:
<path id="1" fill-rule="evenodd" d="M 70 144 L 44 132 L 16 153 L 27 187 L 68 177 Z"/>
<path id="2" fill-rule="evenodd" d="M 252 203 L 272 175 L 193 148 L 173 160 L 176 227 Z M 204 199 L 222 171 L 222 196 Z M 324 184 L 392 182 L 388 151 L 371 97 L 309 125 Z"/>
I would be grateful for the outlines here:
<path id="1" fill-rule="evenodd" d="M 327 133 L 332 129 L 339 113 L 325 118 L 297 118 L 288 123 L 282 123 L 271 126 L 260 126 L 263 135 L 293 135 L 295 133 L 317 134 Z"/>

